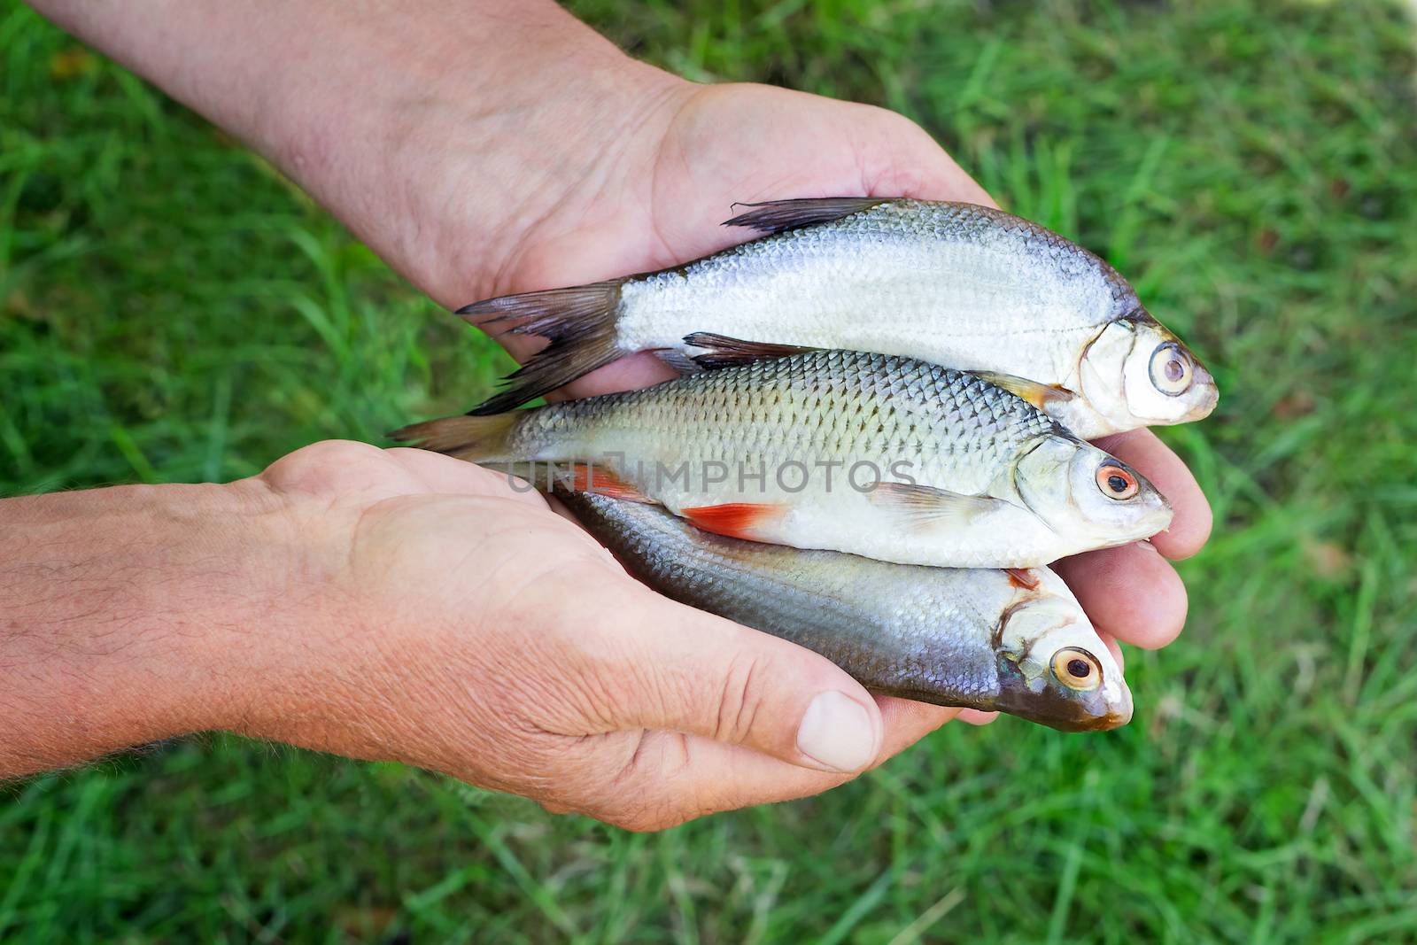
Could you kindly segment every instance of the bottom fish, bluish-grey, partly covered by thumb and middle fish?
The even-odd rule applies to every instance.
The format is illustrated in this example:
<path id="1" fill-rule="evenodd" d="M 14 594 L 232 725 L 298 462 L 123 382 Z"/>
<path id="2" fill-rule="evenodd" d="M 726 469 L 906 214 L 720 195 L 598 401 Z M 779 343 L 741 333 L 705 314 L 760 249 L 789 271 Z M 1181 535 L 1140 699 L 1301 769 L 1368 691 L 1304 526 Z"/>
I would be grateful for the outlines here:
<path id="1" fill-rule="evenodd" d="M 1107 731 L 1132 694 L 1067 585 L 1006 572 L 886 564 L 716 536 L 662 509 L 558 489 L 640 582 L 828 657 L 867 690 L 1063 731 Z"/>

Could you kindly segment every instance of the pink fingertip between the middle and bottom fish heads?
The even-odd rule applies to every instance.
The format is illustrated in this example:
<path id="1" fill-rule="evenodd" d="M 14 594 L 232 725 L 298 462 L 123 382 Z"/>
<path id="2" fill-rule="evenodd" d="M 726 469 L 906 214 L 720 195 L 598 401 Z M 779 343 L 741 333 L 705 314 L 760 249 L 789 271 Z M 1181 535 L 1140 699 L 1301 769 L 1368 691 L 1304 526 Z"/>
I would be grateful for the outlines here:
<path id="1" fill-rule="evenodd" d="M 1146 541 L 1063 558 L 1053 568 L 1093 625 L 1119 640 L 1156 649 L 1186 623 L 1186 585 Z"/>

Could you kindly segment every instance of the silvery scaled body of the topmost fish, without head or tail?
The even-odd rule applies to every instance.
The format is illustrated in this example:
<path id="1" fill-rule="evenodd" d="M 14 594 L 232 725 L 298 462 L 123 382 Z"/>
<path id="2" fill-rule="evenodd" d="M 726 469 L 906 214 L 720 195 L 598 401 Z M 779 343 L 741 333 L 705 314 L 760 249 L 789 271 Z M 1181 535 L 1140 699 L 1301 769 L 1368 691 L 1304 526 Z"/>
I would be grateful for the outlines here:
<path id="1" fill-rule="evenodd" d="M 862 244 L 870 251 L 863 252 Z M 625 347 L 648 349 L 677 343 L 696 330 L 717 332 L 720 313 L 734 317 L 737 324 L 755 320 L 757 310 L 741 309 L 761 305 L 760 275 L 765 268 L 794 289 L 772 286 L 772 324 L 813 336 L 811 341 L 795 343 L 836 344 L 828 340 L 835 327 L 830 322 L 815 332 L 805 320 L 799 323 L 799 313 L 823 310 L 819 303 L 825 296 L 837 299 L 826 310 L 840 310 L 867 298 L 871 309 L 918 310 L 931 305 L 972 309 L 973 317 L 966 315 L 952 323 L 956 337 L 1097 327 L 1118 306 L 1139 305 L 1125 281 L 1098 264 L 1057 234 L 985 207 L 898 200 L 741 244 L 683 266 L 672 282 L 650 276 L 626 283 L 619 340 Z M 828 265 L 837 278 L 823 282 L 818 273 Z M 927 281 L 932 273 L 947 278 Z M 1034 288 L 1019 292 L 1030 276 Z M 1022 303 L 1034 317 L 995 319 L 1000 296 L 1012 305 Z M 731 316 L 733 309 L 740 309 L 740 315 Z M 768 317 L 765 312 L 762 317 Z"/>

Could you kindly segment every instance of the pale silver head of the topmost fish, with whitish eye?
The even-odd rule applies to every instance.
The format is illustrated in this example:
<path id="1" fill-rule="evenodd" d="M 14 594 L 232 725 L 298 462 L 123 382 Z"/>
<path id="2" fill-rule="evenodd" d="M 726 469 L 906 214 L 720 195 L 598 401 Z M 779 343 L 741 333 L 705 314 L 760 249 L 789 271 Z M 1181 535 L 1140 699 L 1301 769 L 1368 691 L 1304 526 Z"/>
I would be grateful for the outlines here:
<path id="1" fill-rule="evenodd" d="M 1220 401 L 1210 371 L 1145 312 L 1110 322 L 1093 339 L 1078 361 L 1078 384 L 1114 431 L 1200 419 Z"/>

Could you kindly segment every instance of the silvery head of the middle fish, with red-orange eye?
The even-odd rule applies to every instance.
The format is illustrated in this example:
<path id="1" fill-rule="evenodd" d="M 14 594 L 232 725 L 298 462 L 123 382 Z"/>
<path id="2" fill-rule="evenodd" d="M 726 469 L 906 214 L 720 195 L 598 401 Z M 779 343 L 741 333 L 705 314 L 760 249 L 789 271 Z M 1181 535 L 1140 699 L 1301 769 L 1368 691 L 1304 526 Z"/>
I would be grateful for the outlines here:
<path id="1" fill-rule="evenodd" d="M 1090 547 L 1149 538 L 1170 524 L 1170 503 L 1145 476 L 1063 434 L 1041 438 L 1017 462 L 1015 486 L 1053 531 Z"/>

